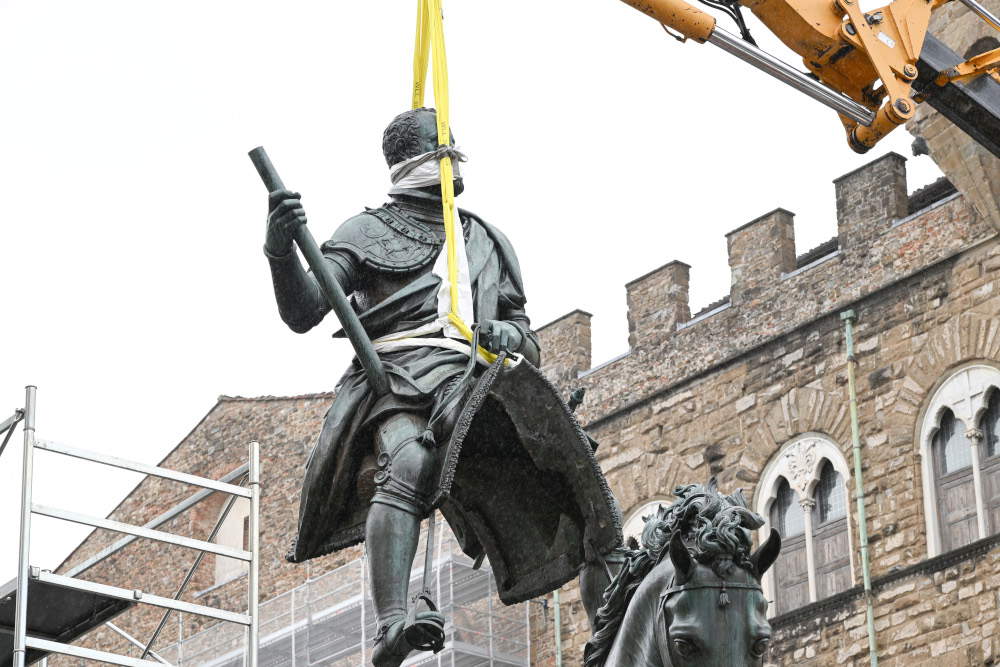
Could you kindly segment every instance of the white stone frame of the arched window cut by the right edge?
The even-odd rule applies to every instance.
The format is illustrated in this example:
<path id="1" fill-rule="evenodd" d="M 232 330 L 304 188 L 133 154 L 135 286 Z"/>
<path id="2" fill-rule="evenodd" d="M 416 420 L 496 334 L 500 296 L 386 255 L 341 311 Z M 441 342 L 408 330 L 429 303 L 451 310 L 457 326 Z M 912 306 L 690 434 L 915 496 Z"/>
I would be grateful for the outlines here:
<path id="1" fill-rule="evenodd" d="M 998 389 L 1000 389 L 1000 367 L 995 363 L 983 359 L 962 364 L 938 383 L 917 420 L 928 558 L 944 553 L 941 520 L 937 511 L 938 471 L 932 445 L 945 410 L 951 410 L 955 419 L 965 426 L 965 434 L 972 448 L 972 486 L 976 497 L 979 539 L 989 536 L 980 452 L 983 432 L 979 428 L 979 423 L 986 412 L 991 390 Z"/>

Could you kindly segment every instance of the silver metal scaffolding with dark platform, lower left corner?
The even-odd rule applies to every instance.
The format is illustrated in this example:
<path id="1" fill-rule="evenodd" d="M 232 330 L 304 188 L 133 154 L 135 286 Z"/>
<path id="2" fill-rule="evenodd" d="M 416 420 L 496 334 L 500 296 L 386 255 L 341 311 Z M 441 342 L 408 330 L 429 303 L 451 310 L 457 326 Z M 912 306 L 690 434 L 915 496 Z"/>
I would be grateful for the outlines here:
<path id="1" fill-rule="evenodd" d="M 43 659 L 49 653 L 60 653 L 87 660 L 97 660 L 115 665 L 128 665 L 142 667 L 145 665 L 170 664 L 162 657 L 162 653 L 152 651 L 152 645 L 156 641 L 163 627 L 167 623 L 170 613 L 173 611 L 197 614 L 214 618 L 220 621 L 227 621 L 244 627 L 243 650 L 238 663 L 246 667 L 258 666 L 257 648 L 259 642 L 259 605 L 258 605 L 258 580 L 260 562 L 260 540 L 259 540 L 259 517 L 260 517 L 260 446 L 257 442 L 249 445 L 249 463 L 241 466 L 237 470 L 226 475 L 222 480 L 207 479 L 197 477 L 187 473 L 168 470 L 159 466 L 151 466 L 144 463 L 127 461 L 113 456 L 106 456 L 95 452 L 74 449 L 65 445 L 39 440 L 35 436 L 35 396 L 36 389 L 29 386 L 25 390 L 25 406 L 23 410 L 18 410 L 10 419 L 0 423 L 0 434 L 7 431 L 3 444 L 9 439 L 10 433 L 18 421 L 24 422 L 24 457 L 21 480 L 21 532 L 20 532 L 20 552 L 18 557 L 18 572 L 16 580 L 16 593 L 14 596 L 7 595 L 0 600 L 0 605 L 13 599 L 14 602 L 14 622 L 10 632 L 13 635 L 13 667 L 24 667 L 29 662 Z M 131 470 L 145 475 L 170 479 L 185 484 L 201 487 L 201 491 L 195 493 L 188 499 L 179 503 L 173 509 L 156 517 L 143 526 L 133 526 L 131 524 L 103 519 L 98 517 L 78 514 L 76 512 L 48 507 L 36 504 L 32 501 L 32 483 L 34 479 L 34 454 L 35 450 L 42 450 L 69 456 L 77 459 L 91 461 L 106 466 Z M 0 453 L 3 447 L 0 446 Z M 233 484 L 235 480 L 245 478 L 246 486 Z M 215 528 L 207 541 L 182 537 L 173 533 L 157 530 L 157 527 L 165 524 L 181 512 L 194 506 L 204 498 L 214 492 L 221 492 L 229 495 L 229 499 L 219 517 Z M 236 498 L 247 498 L 250 501 L 249 516 L 249 550 L 234 549 L 227 546 L 215 544 L 215 538 L 222 525 L 223 520 L 232 508 Z M 40 570 L 29 565 L 31 549 L 31 518 L 34 515 L 48 516 L 63 521 L 79 523 L 94 528 L 102 528 L 124 533 L 125 538 L 119 540 L 107 549 L 96 554 L 87 561 L 77 565 L 66 574 L 55 574 Z M 125 546 L 138 538 L 145 538 L 168 544 L 179 545 L 198 552 L 198 557 L 189 568 L 187 576 L 180 588 L 172 597 L 161 597 L 138 589 L 125 589 L 93 581 L 78 578 L 78 575 L 101 562 L 108 556 L 120 551 Z M 235 613 L 215 607 L 208 607 L 200 604 L 182 601 L 180 598 L 190 582 L 194 571 L 201 563 L 205 553 L 213 553 L 220 556 L 235 558 L 249 563 L 248 577 L 248 611 L 246 614 Z M 38 598 L 41 603 L 43 596 L 48 596 L 51 600 L 53 596 L 61 595 L 66 600 L 65 604 L 44 605 L 30 604 L 29 597 Z M 0 595 L 0 597 L 3 597 Z M 149 641 L 143 643 L 124 632 L 117 626 L 110 623 L 110 618 L 121 613 L 125 608 L 134 604 L 148 604 L 165 609 L 159 627 Z M 74 605 L 79 608 L 84 615 L 84 619 L 68 618 L 67 610 L 72 611 Z M 52 608 L 55 609 L 52 609 Z M 51 611 L 50 611 L 51 609 Z M 62 613 L 62 616 L 59 614 Z M 31 619 L 29 634 L 29 618 Z M 83 632 L 93 629 L 97 625 L 104 623 L 113 631 L 124 637 L 129 643 L 142 649 L 139 658 L 126 655 L 118 655 L 97 651 L 94 649 L 78 646 L 70 643 L 72 639 L 83 634 Z M 0 628 L 2 629 L 2 628 Z M 44 638 L 42 635 L 48 638 Z M 60 641 L 53 641 L 53 637 Z M 30 655 L 29 655 L 30 652 Z M 145 659 L 152 656 L 154 660 Z M 4 664 L 0 656 L 0 665 Z"/>

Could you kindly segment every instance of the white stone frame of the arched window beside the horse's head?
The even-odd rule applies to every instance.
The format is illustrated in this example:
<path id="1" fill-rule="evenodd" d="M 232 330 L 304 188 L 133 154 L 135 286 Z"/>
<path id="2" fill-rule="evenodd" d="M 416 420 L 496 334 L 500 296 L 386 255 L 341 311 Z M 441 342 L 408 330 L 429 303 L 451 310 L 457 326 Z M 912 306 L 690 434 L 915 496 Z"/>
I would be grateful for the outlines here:
<path id="1" fill-rule="evenodd" d="M 813 494 L 819 484 L 820 473 L 823 471 L 823 462 L 829 461 L 833 469 L 840 474 L 844 483 L 844 493 L 848 498 L 847 502 L 847 544 L 850 555 L 851 585 L 857 585 L 856 563 L 854 554 L 854 526 L 852 517 L 852 506 L 850 498 L 851 473 L 847 465 L 844 452 L 836 441 L 830 436 L 815 431 L 801 433 L 784 445 L 771 457 L 764 472 L 761 474 L 760 482 L 754 498 L 754 511 L 764 519 L 764 526 L 760 535 L 767 535 L 771 531 L 771 506 L 778 497 L 778 482 L 781 478 L 788 480 L 789 486 L 798 495 L 799 503 L 802 505 L 805 515 L 805 536 L 806 536 L 806 568 L 809 572 L 809 603 L 816 602 L 817 596 L 817 574 L 816 558 L 813 553 L 813 539 L 815 530 L 813 528 Z M 772 568 L 773 570 L 773 568 Z M 764 595 L 768 599 L 767 615 L 775 615 L 775 590 L 774 572 L 769 570 L 764 573 L 761 579 L 761 586 Z"/>

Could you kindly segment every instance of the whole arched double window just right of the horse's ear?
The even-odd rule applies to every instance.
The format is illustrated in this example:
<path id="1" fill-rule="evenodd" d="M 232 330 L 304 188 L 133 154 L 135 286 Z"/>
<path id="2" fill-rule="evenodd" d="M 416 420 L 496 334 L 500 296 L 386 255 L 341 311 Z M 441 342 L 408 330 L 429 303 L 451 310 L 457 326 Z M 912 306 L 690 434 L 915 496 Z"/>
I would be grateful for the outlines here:
<path id="1" fill-rule="evenodd" d="M 826 436 L 786 443 L 764 468 L 754 507 L 781 535 L 777 563 L 764 575 L 771 612 L 783 614 L 851 587 L 847 461 Z"/>

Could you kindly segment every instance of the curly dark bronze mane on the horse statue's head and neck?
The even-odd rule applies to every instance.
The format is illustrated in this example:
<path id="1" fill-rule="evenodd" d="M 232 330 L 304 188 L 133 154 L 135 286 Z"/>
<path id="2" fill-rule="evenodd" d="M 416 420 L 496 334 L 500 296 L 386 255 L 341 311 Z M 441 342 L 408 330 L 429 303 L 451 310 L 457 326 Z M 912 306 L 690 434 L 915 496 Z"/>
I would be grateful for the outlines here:
<path id="1" fill-rule="evenodd" d="M 707 486 L 688 484 L 674 489 L 677 501 L 660 505 L 643 517 L 642 544 L 631 545 L 625 564 L 604 592 L 594 634 L 584 649 L 585 667 L 602 667 L 621 628 L 625 611 L 642 580 L 660 562 L 674 533 L 680 533 L 692 557 L 725 577 L 734 567 L 753 571 L 750 563 L 751 530 L 764 525 L 750 511 L 742 489 L 723 495 L 713 478 Z"/>

